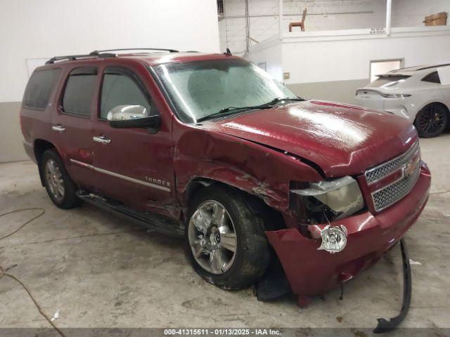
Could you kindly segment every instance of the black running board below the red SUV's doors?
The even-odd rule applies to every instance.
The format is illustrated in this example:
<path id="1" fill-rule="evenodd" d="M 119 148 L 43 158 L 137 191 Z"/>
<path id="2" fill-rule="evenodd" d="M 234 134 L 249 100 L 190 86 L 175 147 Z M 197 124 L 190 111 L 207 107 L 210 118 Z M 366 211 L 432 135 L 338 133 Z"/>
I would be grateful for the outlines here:
<path id="1" fill-rule="evenodd" d="M 173 237 L 183 237 L 184 235 L 184 228 L 181 227 L 180 223 L 165 216 L 136 211 L 131 209 L 129 206 L 125 206 L 119 201 L 105 199 L 86 190 L 79 190 L 77 192 L 77 197 L 83 201 L 86 201 L 88 204 L 92 204 L 100 209 L 114 213 L 132 223 L 136 223 L 136 225 L 141 225 L 150 230 L 154 230 L 155 232 Z"/>

